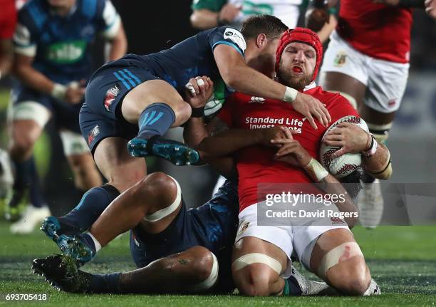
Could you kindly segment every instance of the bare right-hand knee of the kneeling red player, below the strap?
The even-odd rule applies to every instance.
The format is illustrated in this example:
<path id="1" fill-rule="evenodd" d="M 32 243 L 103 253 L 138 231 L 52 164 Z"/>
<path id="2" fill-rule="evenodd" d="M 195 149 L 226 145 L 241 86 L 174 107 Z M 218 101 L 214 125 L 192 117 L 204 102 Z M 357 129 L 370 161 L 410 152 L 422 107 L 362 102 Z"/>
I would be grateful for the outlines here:
<path id="1" fill-rule="evenodd" d="M 361 256 L 355 256 L 343 261 L 330 269 L 328 279 L 344 294 L 362 296 L 368 289 L 371 276 L 365 260 Z"/>

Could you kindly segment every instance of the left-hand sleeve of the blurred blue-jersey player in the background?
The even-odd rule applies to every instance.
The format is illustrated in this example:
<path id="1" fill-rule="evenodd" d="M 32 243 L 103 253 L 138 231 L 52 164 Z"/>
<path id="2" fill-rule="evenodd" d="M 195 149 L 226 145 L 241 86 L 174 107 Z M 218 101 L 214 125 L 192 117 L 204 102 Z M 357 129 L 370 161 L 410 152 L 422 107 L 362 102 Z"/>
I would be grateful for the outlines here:
<path id="1" fill-rule="evenodd" d="M 14 51 L 22 56 L 36 56 L 36 37 L 38 28 L 26 9 L 19 12 L 14 32 Z"/>

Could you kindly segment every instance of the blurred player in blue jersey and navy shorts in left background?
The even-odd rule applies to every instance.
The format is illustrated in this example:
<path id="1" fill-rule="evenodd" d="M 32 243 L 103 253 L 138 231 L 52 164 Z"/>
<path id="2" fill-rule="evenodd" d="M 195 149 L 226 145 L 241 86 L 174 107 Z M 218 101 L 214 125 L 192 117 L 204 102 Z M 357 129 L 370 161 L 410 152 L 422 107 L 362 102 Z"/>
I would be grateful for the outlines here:
<path id="1" fill-rule="evenodd" d="M 84 192 L 102 183 L 78 127 L 84 86 L 92 73 L 90 46 L 99 33 L 110 43 L 109 60 L 125 54 L 127 41 L 120 16 L 108 0 L 31 0 L 19 11 L 14 35 L 14 73 L 19 84 L 11 94 L 9 114 L 10 155 L 15 166 L 9 207 L 16 207 L 29 187 L 31 205 L 11 225 L 14 233 L 30 232 L 50 215 L 32 152 L 51 117 L 56 120 L 76 187 Z"/>

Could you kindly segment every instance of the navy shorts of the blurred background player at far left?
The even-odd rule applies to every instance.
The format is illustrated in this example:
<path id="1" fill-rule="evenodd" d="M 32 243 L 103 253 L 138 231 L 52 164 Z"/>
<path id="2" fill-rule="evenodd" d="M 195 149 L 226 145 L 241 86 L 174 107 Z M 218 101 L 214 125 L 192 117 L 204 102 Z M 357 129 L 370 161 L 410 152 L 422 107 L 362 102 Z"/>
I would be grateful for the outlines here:
<path id="1" fill-rule="evenodd" d="M 55 120 L 56 127 L 64 128 L 77 133 L 81 132 L 78 124 L 78 117 L 82 103 L 72 105 L 71 103 L 57 100 L 51 97 L 51 95 L 27 88 L 21 84 L 14 85 L 11 97 L 14 105 L 24 103 L 26 101 L 39 103 L 51 112 L 53 119 Z"/>

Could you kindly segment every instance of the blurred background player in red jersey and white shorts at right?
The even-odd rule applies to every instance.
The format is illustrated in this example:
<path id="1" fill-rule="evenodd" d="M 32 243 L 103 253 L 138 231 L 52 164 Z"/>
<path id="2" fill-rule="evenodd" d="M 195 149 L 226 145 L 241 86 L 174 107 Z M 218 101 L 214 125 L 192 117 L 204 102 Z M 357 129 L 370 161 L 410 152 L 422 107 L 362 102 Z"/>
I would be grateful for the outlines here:
<path id="1" fill-rule="evenodd" d="M 315 2 L 324 6 L 324 1 Z M 412 7 L 423 8 L 424 0 L 341 1 L 321 67 L 319 84 L 346 97 L 383 143 L 408 80 Z M 370 175 L 364 182 L 358 197 L 360 222 L 375 227 L 383 215 L 380 184 L 371 184 L 378 181 Z"/>

